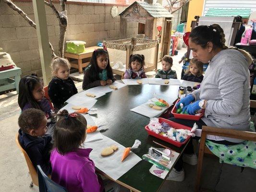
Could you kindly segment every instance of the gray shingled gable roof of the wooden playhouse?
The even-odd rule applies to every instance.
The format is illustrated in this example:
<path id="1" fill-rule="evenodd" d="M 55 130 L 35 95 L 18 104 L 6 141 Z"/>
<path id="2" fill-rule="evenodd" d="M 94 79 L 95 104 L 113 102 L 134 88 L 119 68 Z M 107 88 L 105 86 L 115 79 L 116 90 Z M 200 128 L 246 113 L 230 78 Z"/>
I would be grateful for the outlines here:
<path id="1" fill-rule="evenodd" d="M 148 12 L 148 14 L 150 14 L 154 18 L 173 17 L 173 15 L 170 12 L 168 12 L 161 4 L 155 3 L 155 4 L 151 5 L 145 1 L 135 1 L 133 4 L 131 4 L 125 10 L 123 10 L 119 15 L 122 15 L 130 7 L 134 6 L 135 3 L 139 4 L 143 9 L 146 10 L 146 12 Z"/>

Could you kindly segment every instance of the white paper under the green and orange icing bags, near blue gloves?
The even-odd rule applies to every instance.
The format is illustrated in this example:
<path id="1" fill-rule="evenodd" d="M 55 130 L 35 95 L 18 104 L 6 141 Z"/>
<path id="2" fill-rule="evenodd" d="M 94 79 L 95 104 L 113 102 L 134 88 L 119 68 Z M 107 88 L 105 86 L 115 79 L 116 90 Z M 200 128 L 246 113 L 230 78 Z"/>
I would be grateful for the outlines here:
<path id="1" fill-rule="evenodd" d="M 166 102 L 168 102 L 168 101 L 166 101 Z M 137 106 L 137 107 L 132 108 L 130 110 L 134 111 L 136 113 L 139 113 L 141 115 L 144 115 L 146 117 L 152 118 L 152 117 L 155 117 L 155 116 L 161 114 L 165 109 L 167 109 L 167 107 L 161 107 L 162 110 L 156 110 L 154 108 L 150 108 L 150 107 L 148 107 L 148 105 L 150 103 L 153 103 L 153 102 L 147 101 L 146 103 L 141 104 L 140 106 Z M 170 102 L 168 102 L 168 103 L 169 103 L 169 105 L 171 104 Z"/>

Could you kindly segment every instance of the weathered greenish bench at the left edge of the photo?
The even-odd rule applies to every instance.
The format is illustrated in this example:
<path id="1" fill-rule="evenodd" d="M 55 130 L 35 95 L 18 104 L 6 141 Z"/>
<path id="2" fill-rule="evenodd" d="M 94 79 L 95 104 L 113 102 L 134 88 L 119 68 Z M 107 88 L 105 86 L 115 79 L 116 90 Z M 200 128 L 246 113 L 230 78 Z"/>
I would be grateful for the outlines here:
<path id="1" fill-rule="evenodd" d="M 19 94 L 19 83 L 21 80 L 20 75 L 21 68 L 19 67 L 0 71 L 0 92 L 16 88 L 17 94 Z M 11 77 L 14 77 L 14 79 Z"/>

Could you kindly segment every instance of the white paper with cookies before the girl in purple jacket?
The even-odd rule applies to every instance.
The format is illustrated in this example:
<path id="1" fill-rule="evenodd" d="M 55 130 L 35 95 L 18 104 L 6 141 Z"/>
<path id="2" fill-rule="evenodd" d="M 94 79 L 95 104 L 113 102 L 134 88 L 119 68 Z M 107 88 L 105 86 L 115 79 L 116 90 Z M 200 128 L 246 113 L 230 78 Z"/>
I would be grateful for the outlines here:
<path id="1" fill-rule="evenodd" d="M 109 137 L 104 135 L 102 136 L 102 140 L 84 143 L 84 147 L 93 149 L 89 157 L 94 161 L 94 164 L 98 169 L 106 173 L 113 180 L 118 180 L 118 178 L 133 168 L 142 159 L 135 155 L 133 152 L 130 152 L 130 155 L 123 162 L 121 162 L 125 147 L 110 139 Z M 100 155 L 101 151 L 105 147 L 111 146 L 113 144 L 118 146 L 118 150 L 116 150 L 110 156 L 103 157 Z"/>

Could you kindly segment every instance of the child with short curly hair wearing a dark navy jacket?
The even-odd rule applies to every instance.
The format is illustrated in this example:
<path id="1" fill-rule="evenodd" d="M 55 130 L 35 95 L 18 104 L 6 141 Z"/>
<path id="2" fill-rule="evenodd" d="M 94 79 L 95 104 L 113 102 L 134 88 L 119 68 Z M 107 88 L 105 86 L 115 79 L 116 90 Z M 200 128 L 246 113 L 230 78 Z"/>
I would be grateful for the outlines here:
<path id="1" fill-rule="evenodd" d="M 52 148 L 51 136 L 47 131 L 45 113 L 36 108 L 25 109 L 18 119 L 19 141 L 36 168 L 40 165 L 45 174 L 51 173 L 49 163 Z"/>

